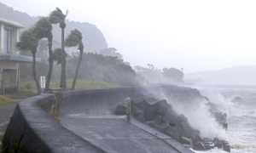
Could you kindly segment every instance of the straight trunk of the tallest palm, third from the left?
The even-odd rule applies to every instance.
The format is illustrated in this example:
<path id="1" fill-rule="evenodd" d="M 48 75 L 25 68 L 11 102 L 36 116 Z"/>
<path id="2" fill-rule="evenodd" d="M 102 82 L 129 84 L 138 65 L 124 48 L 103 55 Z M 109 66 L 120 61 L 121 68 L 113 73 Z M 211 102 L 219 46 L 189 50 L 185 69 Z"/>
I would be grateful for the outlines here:
<path id="1" fill-rule="evenodd" d="M 60 88 L 67 88 L 66 54 L 64 53 L 64 29 L 65 28 L 61 28 L 61 84 L 60 84 Z"/>

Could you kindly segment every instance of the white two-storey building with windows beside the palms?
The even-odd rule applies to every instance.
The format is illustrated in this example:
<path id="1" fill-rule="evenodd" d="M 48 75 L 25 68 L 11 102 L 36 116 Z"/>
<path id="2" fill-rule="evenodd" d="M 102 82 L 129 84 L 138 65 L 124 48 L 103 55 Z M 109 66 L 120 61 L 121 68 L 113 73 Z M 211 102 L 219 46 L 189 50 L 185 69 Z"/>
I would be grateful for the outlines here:
<path id="1" fill-rule="evenodd" d="M 25 25 L 0 18 L 0 88 L 8 86 L 14 91 L 19 89 L 19 65 L 20 63 L 32 63 L 32 57 L 20 55 L 20 51 L 15 48 L 15 43 L 19 42 L 20 29 Z M 40 61 L 41 59 L 37 59 Z M 9 82 L 3 83 L 3 72 L 9 71 Z M 9 83 L 9 85 L 8 85 Z"/>

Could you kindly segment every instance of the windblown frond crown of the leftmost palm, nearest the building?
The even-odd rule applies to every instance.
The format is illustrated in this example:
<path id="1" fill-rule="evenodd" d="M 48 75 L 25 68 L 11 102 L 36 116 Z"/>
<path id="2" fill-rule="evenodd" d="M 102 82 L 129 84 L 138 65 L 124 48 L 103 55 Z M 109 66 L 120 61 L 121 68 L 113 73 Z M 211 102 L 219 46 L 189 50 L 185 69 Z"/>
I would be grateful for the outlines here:
<path id="1" fill-rule="evenodd" d="M 20 42 L 16 42 L 15 46 L 18 50 L 22 51 L 32 51 L 33 49 L 38 48 L 38 39 L 34 34 L 34 29 L 30 28 L 26 31 L 22 31 L 20 34 Z"/>

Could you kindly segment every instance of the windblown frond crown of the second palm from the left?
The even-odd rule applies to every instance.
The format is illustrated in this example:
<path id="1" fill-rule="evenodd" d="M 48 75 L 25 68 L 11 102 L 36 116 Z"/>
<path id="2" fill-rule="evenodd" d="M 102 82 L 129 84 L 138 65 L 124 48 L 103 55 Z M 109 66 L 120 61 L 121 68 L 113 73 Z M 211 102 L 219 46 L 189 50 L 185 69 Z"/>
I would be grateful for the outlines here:
<path id="1" fill-rule="evenodd" d="M 43 17 L 40 20 L 38 20 L 34 27 L 34 31 L 38 39 L 48 37 L 49 32 L 52 31 L 52 26 L 49 22 L 49 18 Z"/>

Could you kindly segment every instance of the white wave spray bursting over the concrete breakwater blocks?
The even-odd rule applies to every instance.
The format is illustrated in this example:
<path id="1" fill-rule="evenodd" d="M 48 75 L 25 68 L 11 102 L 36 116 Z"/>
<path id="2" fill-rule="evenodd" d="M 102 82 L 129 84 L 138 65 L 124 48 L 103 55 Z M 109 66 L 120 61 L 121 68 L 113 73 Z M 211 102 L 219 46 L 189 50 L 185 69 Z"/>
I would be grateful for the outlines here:
<path id="1" fill-rule="evenodd" d="M 208 94 L 211 94 L 209 92 Z M 229 110 L 229 105 L 225 104 L 223 97 L 219 94 L 211 94 L 211 96 L 203 94 L 207 96 L 208 99 L 216 98 L 215 100 L 211 101 L 212 103 L 218 104 L 219 108 L 222 108 L 222 112 L 226 112 Z M 216 121 L 215 118 L 210 113 L 210 108 L 208 101 L 206 99 L 198 99 L 186 102 L 179 102 L 173 101 L 171 99 L 166 98 L 168 103 L 172 105 L 174 111 L 177 114 L 183 114 L 188 118 L 188 122 L 191 127 L 200 130 L 201 137 L 203 138 L 219 138 L 219 139 L 228 139 L 227 133 L 222 126 L 220 126 Z M 185 104 L 185 105 L 184 105 Z"/>

